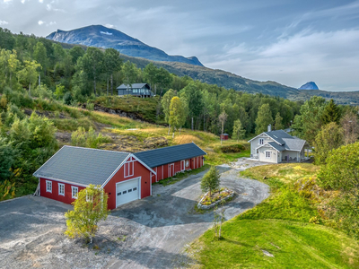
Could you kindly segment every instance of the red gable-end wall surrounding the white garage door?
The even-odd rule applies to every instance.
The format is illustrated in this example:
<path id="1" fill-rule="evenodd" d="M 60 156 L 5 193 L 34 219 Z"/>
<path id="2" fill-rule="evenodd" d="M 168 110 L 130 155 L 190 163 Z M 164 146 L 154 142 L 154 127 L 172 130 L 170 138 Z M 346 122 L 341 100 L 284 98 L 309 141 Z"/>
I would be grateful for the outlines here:
<path id="1" fill-rule="evenodd" d="M 106 193 L 109 195 L 109 200 L 108 200 L 109 209 L 116 208 L 116 183 L 118 182 L 141 177 L 141 199 L 151 195 L 151 178 L 150 178 L 151 172 L 138 161 L 135 161 L 134 165 L 135 165 L 134 176 L 124 178 L 125 171 L 124 171 L 124 167 L 122 166 L 118 170 L 118 172 L 111 179 L 109 179 L 109 182 L 104 187 Z"/>

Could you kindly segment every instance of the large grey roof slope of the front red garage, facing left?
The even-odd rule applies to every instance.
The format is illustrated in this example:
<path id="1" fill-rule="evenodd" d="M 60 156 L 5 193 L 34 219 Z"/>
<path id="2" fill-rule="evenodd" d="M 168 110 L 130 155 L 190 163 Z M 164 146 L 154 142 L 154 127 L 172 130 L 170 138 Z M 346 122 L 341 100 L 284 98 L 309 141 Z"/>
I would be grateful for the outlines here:
<path id="1" fill-rule="evenodd" d="M 102 186 L 129 154 L 131 153 L 63 146 L 33 175 L 83 186 Z"/>

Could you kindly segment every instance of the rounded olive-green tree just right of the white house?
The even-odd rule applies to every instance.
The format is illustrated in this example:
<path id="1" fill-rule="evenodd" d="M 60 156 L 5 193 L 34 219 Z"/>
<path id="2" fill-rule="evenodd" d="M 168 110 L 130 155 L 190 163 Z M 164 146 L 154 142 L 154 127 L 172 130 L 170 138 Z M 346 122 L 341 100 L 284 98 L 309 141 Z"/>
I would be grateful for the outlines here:
<path id="1" fill-rule="evenodd" d="M 324 164 L 331 150 L 343 145 L 343 129 L 335 122 L 322 126 L 315 137 L 315 163 Z"/>

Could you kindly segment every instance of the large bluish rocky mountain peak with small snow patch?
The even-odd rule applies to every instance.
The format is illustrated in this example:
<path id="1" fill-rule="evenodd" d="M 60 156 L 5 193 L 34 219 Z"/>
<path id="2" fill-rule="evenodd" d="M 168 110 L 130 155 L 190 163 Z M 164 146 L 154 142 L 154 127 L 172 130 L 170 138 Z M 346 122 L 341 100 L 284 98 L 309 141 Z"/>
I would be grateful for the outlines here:
<path id="1" fill-rule="evenodd" d="M 203 66 L 196 56 L 169 56 L 161 49 L 150 47 L 119 30 L 102 25 L 91 25 L 75 30 L 57 30 L 50 33 L 46 38 L 61 43 L 79 44 L 88 47 L 116 48 L 124 55 L 143 57 L 153 61 L 179 62 Z"/>

